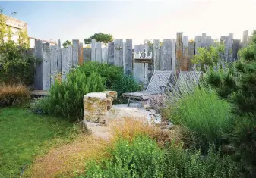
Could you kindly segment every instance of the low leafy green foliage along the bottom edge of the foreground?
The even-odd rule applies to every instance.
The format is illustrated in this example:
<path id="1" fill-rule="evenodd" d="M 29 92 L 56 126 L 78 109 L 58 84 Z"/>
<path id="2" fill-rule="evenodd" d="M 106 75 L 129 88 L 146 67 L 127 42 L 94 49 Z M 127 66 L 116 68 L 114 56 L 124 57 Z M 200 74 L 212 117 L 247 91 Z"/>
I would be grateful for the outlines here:
<path id="1" fill-rule="evenodd" d="M 86 177 L 239 177 L 239 166 L 212 148 L 207 156 L 171 144 L 161 149 L 147 136 L 119 139 L 111 157 L 87 166 Z"/>

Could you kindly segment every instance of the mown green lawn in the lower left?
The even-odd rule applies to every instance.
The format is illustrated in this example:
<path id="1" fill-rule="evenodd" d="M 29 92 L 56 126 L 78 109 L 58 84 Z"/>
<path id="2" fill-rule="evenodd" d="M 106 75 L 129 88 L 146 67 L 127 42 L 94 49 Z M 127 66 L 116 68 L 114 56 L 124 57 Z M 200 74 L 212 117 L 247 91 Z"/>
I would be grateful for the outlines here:
<path id="1" fill-rule="evenodd" d="M 0 177 L 21 176 L 36 155 L 68 142 L 76 133 L 76 126 L 56 117 L 0 108 Z"/>

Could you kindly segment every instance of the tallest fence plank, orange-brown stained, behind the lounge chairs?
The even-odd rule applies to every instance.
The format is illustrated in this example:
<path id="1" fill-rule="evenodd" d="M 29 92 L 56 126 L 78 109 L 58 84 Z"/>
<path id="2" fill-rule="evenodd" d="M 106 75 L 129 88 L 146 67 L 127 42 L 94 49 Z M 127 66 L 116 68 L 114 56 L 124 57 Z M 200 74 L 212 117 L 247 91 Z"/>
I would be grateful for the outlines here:
<path id="1" fill-rule="evenodd" d="M 177 33 L 175 72 L 182 70 L 182 53 L 183 53 L 182 51 L 183 51 L 182 33 Z"/>

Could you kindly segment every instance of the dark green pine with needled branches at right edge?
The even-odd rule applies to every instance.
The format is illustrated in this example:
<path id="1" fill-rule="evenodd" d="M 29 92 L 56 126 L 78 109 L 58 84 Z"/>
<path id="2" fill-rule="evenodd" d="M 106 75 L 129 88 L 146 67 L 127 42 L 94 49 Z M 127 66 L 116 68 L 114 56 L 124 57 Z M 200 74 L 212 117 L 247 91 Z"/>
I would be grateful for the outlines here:
<path id="1" fill-rule="evenodd" d="M 250 175 L 256 174 L 256 31 L 248 45 L 239 50 L 239 61 L 207 71 L 206 79 L 217 93 L 226 98 L 237 114 L 234 127 L 226 132 L 229 145 L 235 149 L 235 156 Z"/>

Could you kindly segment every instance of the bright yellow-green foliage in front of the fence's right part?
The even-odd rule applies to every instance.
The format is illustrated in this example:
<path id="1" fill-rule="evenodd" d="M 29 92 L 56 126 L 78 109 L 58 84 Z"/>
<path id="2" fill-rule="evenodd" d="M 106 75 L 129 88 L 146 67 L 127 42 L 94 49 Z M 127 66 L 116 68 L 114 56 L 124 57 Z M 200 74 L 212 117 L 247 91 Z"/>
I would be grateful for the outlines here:
<path id="1" fill-rule="evenodd" d="M 217 64 L 221 60 L 221 54 L 225 50 L 223 42 L 214 42 L 214 45 L 210 45 L 210 48 L 198 48 L 198 55 L 194 55 L 192 62 L 200 65 L 201 71 L 206 71 L 206 67 L 212 67 L 213 64 Z"/>

